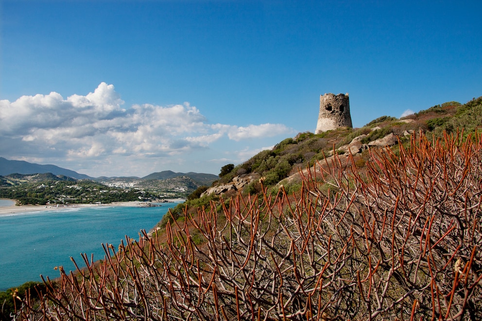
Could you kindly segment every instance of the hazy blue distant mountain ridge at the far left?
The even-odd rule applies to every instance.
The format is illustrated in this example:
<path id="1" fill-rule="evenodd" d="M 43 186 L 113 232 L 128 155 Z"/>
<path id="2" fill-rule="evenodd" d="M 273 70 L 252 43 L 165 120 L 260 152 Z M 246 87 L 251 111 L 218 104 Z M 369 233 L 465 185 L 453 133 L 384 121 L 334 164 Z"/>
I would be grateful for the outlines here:
<path id="1" fill-rule="evenodd" d="M 26 161 L 8 160 L 0 157 L 0 175 L 5 176 L 9 174 L 43 174 L 52 173 L 54 175 L 65 175 L 78 180 L 81 179 L 92 179 L 92 177 L 79 174 L 76 171 L 70 169 L 63 169 L 55 165 L 40 165 L 29 163 Z"/>

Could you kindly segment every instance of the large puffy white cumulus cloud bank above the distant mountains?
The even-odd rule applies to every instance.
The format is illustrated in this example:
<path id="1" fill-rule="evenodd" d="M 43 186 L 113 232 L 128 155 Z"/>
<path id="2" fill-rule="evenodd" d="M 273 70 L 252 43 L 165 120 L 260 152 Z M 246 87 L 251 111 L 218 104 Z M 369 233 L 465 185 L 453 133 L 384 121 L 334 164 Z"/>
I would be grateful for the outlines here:
<path id="1" fill-rule="evenodd" d="M 100 157 L 166 157 L 206 149 L 227 137 L 245 139 L 287 134 L 282 124 L 246 127 L 209 124 L 188 102 L 171 106 L 134 104 L 125 108 L 114 85 L 101 83 L 85 96 L 60 94 L 22 96 L 0 101 L 0 154 L 15 146 L 16 159 L 28 151 L 31 159 L 43 154 L 67 160 Z"/>

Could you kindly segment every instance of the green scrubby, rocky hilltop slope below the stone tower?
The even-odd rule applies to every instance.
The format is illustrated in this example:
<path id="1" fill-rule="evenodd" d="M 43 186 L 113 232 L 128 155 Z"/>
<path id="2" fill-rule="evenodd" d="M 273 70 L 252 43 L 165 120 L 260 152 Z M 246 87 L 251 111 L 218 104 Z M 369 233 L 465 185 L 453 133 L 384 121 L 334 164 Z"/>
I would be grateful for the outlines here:
<path id="1" fill-rule="evenodd" d="M 363 167 L 370 149 L 391 147 L 397 150 L 398 144 L 408 145 L 414 133 L 440 137 L 444 131 L 451 134 L 463 128 L 467 135 L 482 124 L 481 101 L 482 98 L 473 99 L 464 105 L 449 101 L 400 119 L 381 116 L 361 128 L 342 127 L 316 135 L 299 133 L 276 144 L 272 150 L 259 152 L 248 161 L 233 166 L 203 195 L 233 195 L 238 190 L 256 194 L 260 192 L 260 178 L 264 186 L 279 183 L 292 192 L 300 188 L 299 170 L 312 167 L 334 153 L 341 157 L 353 155 L 358 166 Z"/>

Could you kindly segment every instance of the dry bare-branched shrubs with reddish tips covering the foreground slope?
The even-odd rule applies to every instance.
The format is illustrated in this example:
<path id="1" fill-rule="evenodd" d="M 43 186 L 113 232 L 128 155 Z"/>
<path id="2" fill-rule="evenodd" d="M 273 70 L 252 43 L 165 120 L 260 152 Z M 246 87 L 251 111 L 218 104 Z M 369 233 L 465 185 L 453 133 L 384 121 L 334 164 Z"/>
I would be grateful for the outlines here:
<path id="1" fill-rule="evenodd" d="M 144 235 L 106 247 L 105 261 L 85 258 L 77 277 L 62 271 L 17 315 L 482 320 L 481 138 L 413 136 L 397 155 L 372 152 L 363 176 L 335 156 L 302 174 L 298 197 L 237 195 L 168 223 L 165 244 Z"/>

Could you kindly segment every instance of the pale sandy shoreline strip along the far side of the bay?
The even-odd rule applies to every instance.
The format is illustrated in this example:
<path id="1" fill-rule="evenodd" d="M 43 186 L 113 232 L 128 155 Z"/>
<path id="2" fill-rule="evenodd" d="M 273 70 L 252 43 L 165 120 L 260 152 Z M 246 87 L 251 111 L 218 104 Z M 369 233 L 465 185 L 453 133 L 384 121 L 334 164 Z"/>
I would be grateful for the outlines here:
<path id="1" fill-rule="evenodd" d="M 15 200 L 10 200 L 14 201 Z M 166 200 L 168 203 L 183 202 L 184 199 L 170 199 Z M 10 205 L 10 206 L 0 206 L 0 216 L 2 215 L 12 215 L 12 214 L 25 214 L 32 212 L 41 211 L 52 211 L 52 210 L 64 210 L 70 208 L 81 208 L 81 207 L 95 207 L 95 206 L 130 206 L 130 207 L 148 207 L 148 204 L 154 202 L 141 202 L 141 201 L 127 201 L 127 202 L 114 202 L 105 204 L 63 204 L 57 207 L 57 205 Z M 162 205 L 161 205 L 162 206 Z"/>

